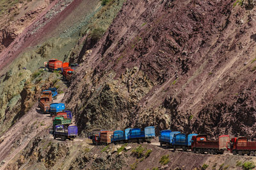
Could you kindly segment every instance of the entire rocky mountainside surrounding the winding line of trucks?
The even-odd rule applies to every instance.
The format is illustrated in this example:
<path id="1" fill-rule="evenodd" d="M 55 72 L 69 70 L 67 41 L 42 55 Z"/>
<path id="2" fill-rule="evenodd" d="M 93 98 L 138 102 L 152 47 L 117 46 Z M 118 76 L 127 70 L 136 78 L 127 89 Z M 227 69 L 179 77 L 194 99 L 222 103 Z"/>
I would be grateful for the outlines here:
<path id="1" fill-rule="evenodd" d="M 5 151 L 0 164 L 6 169 L 145 167 L 129 156 L 97 157 L 103 148 L 84 139 L 51 139 L 51 118 L 35 118 L 40 92 L 49 87 L 65 93 L 61 102 L 72 109 L 79 137 L 93 129 L 152 125 L 156 134 L 170 128 L 255 139 L 255 5 L 253 0 L 1 1 L 0 148 Z M 51 58 L 79 64 L 70 84 L 60 73 L 40 68 Z M 13 139 L 16 133 L 19 141 Z M 161 151 L 147 147 L 156 150 L 150 161 L 159 164 Z M 80 151 L 83 156 L 70 156 Z M 194 156 L 175 152 L 173 162 L 179 157 Z M 182 166 L 215 165 L 215 156 L 196 157 L 202 161 Z M 221 159 L 239 169 L 237 160 Z M 182 169 L 179 165 L 168 167 Z"/>

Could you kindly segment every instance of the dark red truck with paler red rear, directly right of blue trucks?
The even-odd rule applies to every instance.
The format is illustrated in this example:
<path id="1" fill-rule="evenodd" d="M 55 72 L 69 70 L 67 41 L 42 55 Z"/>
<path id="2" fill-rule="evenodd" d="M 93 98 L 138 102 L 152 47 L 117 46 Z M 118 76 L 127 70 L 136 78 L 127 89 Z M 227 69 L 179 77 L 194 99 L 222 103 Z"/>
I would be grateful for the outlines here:
<path id="1" fill-rule="evenodd" d="M 229 135 L 220 135 L 217 141 L 207 140 L 207 135 L 194 135 L 191 140 L 191 150 L 194 153 L 223 154 L 227 150 L 227 144 L 230 142 Z"/>

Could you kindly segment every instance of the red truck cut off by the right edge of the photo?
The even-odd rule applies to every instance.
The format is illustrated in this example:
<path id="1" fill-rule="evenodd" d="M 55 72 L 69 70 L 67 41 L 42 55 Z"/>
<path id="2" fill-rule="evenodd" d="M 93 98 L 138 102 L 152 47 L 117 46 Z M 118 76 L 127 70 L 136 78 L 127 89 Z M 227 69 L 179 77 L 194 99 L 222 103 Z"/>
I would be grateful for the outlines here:
<path id="1" fill-rule="evenodd" d="M 234 137 L 227 146 L 233 155 L 254 155 L 256 156 L 256 141 L 248 141 L 247 137 Z"/>

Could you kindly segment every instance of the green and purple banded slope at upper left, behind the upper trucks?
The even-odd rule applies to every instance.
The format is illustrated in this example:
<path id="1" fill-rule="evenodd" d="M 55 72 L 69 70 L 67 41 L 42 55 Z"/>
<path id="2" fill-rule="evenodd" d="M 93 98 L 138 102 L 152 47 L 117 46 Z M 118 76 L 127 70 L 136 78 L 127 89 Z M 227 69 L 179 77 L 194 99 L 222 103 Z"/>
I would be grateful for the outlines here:
<path id="1" fill-rule="evenodd" d="M 60 75 L 40 68 L 44 61 L 83 56 L 84 50 L 95 45 L 108 29 L 123 2 L 102 6 L 100 1 L 51 1 L 1 52 L 1 68 L 5 67 L 0 77 L 0 134 L 29 111 L 42 88 L 55 86 L 63 91 L 63 84 L 58 83 Z M 28 8 L 32 8 L 29 3 Z"/>

